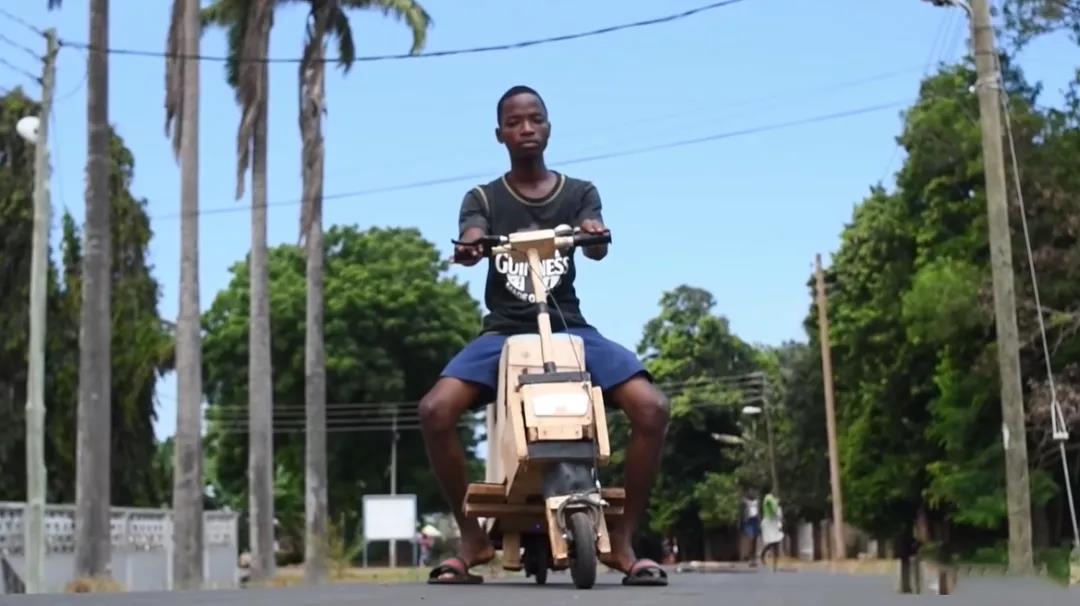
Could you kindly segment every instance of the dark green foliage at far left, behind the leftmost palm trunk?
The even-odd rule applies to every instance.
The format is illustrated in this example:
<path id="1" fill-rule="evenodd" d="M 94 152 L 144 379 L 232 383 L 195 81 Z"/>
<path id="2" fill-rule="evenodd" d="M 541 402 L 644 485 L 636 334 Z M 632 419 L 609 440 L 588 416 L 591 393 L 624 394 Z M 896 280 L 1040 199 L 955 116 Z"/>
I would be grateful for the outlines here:
<path id="1" fill-rule="evenodd" d="M 26 351 L 30 285 L 33 149 L 14 123 L 37 111 L 14 91 L 0 103 L 0 499 L 26 488 Z M 146 201 L 134 198 L 135 162 L 110 134 L 112 212 L 112 495 L 117 506 L 160 506 L 167 484 L 156 477 L 154 383 L 172 366 L 172 337 L 158 314 L 160 285 L 150 274 L 152 232 Z M 45 345 L 45 461 L 50 502 L 75 501 L 76 412 L 82 246 L 75 219 L 62 215 L 59 267 L 50 261 Z"/>

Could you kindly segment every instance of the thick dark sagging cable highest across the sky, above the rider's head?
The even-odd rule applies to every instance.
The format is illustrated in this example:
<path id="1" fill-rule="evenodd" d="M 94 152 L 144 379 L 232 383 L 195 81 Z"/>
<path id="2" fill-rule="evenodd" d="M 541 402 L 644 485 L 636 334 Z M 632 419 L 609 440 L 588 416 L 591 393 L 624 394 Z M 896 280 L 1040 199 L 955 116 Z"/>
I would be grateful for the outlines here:
<path id="1" fill-rule="evenodd" d="M 379 62 L 379 60 L 397 60 L 397 59 L 417 59 L 417 58 L 430 58 L 430 57 L 445 57 L 451 55 L 471 55 L 477 53 L 488 53 L 494 51 L 509 51 L 516 49 L 524 49 L 527 46 L 539 46 L 541 44 L 550 44 L 554 42 L 565 42 L 567 40 L 577 40 L 580 38 L 591 38 L 594 36 L 602 36 L 605 33 L 612 33 L 616 31 L 622 31 L 625 29 L 636 28 L 636 27 L 647 27 L 652 25 L 659 25 L 662 23 L 670 23 L 674 21 L 684 19 L 696 15 L 698 13 L 703 13 L 706 11 L 712 11 L 715 9 L 721 9 L 729 6 L 731 4 L 738 4 L 744 2 L 745 0 L 724 0 L 720 2 L 713 2 L 711 4 L 705 4 L 703 6 L 698 6 L 696 9 L 689 9 L 680 13 L 674 13 L 670 15 L 664 15 L 660 17 L 654 17 L 650 19 L 644 19 L 633 23 L 626 23 L 621 25 L 612 25 L 608 27 L 602 27 L 598 29 L 591 29 L 588 31 L 579 31 L 576 33 L 564 33 L 562 36 L 551 36 L 548 38 L 538 38 L 535 40 L 524 40 L 521 42 L 511 42 L 507 44 L 491 44 L 486 46 L 471 46 L 465 49 L 454 49 L 448 51 L 434 51 L 431 53 L 421 53 L 418 55 L 409 53 L 401 54 L 390 54 L 390 55 L 369 55 L 369 56 L 359 56 L 355 58 L 357 62 Z M 71 46 L 76 49 L 85 50 L 96 50 L 93 45 L 85 42 L 73 42 L 69 40 L 60 40 L 60 44 L 64 46 Z M 148 56 L 148 57 L 174 57 L 174 58 L 194 58 L 198 60 L 213 60 L 213 62 L 226 62 L 229 60 L 228 56 L 222 55 L 189 55 L 185 53 L 167 53 L 161 51 L 144 51 L 136 49 L 106 49 L 106 52 L 114 55 L 133 55 L 133 56 Z M 286 63 L 296 64 L 303 60 L 302 57 L 237 57 L 237 60 L 241 63 Z M 323 63 L 337 63 L 340 60 L 338 57 L 326 57 L 323 58 Z"/>

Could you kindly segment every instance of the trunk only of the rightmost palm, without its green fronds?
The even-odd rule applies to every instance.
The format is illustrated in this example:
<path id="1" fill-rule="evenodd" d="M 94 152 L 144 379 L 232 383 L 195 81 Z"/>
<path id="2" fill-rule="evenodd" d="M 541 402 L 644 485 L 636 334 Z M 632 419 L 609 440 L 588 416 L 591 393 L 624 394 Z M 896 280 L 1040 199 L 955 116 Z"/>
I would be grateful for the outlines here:
<path id="1" fill-rule="evenodd" d="M 319 583 L 327 570 L 326 506 L 326 349 L 323 335 L 323 134 L 326 64 L 323 48 L 325 11 L 315 15 L 314 33 L 300 67 L 300 134 L 303 139 L 301 230 L 307 237 L 307 331 L 305 341 L 305 575 Z M 306 224 L 306 225 L 303 225 Z"/>

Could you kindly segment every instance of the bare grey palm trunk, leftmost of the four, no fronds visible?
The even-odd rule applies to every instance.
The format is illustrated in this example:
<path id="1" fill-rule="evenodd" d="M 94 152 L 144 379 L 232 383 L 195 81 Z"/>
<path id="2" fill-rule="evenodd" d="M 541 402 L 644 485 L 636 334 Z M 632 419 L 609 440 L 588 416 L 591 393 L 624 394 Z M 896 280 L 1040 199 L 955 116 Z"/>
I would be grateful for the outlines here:
<path id="1" fill-rule="evenodd" d="M 111 392 L 111 265 L 109 199 L 109 2 L 91 0 L 86 77 L 86 244 L 79 331 L 79 412 L 76 483 L 77 577 L 109 566 Z"/>

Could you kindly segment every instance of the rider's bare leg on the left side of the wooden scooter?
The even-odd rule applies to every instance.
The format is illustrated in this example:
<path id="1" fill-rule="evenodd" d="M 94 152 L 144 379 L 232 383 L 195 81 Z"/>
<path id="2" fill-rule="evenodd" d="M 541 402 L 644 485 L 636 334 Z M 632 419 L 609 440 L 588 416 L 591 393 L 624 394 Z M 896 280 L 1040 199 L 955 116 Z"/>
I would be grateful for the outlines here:
<path id="1" fill-rule="evenodd" d="M 469 468 L 458 437 L 458 422 L 478 395 L 476 386 L 444 377 L 423 396 L 419 409 L 428 460 L 461 530 L 460 557 L 468 566 L 495 557 L 495 548 L 487 535 L 476 520 L 465 517 L 463 510 Z"/>

